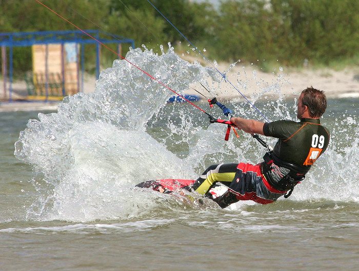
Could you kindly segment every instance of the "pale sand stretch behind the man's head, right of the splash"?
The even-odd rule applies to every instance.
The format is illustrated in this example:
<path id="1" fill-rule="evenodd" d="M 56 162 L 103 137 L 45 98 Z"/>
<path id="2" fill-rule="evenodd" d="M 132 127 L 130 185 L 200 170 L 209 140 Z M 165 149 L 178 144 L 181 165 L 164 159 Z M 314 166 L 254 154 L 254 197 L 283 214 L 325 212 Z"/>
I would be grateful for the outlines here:
<path id="1" fill-rule="evenodd" d="M 217 69 L 223 72 L 228 67 L 227 64 L 221 64 Z M 291 97 L 310 86 L 325 91 L 328 98 L 359 97 L 359 68 L 346 68 L 342 71 L 303 68 L 287 71 L 278 66 L 273 72 L 266 73 L 255 66 L 236 64 L 226 76 L 236 89 L 228 83 L 221 84 L 219 97 L 240 97 L 239 90 L 251 98 L 257 94 L 278 94 L 278 89 L 281 94 Z"/>

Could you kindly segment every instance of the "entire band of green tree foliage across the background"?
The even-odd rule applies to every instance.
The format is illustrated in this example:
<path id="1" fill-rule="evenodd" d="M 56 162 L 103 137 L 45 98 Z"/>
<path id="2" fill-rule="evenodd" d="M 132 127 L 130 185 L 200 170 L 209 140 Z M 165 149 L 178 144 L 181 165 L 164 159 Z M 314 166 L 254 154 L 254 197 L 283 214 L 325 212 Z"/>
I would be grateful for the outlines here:
<path id="1" fill-rule="evenodd" d="M 83 29 L 101 29 L 135 40 L 136 47 L 187 41 L 146 0 L 43 0 Z M 304 59 L 328 64 L 357 56 L 357 0 L 151 0 L 195 45 L 220 60 Z M 0 0 L 2 32 L 73 30 L 74 27 L 35 1 Z M 29 49 L 16 49 L 15 62 L 28 69 Z M 108 58 L 114 58 L 104 53 Z M 86 57 L 94 57 L 90 51 Z"/>

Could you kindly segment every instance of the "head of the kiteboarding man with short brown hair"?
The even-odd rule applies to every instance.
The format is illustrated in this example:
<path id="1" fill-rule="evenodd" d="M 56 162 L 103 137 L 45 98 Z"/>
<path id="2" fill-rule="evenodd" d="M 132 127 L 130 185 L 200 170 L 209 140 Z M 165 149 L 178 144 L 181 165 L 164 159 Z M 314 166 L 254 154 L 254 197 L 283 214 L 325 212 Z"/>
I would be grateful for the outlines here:
<path id="1" fill-rule="evenodd" d="M 324 91 L 306 88 L 298 99 L 297 118 L 320 118 L 327 108 Z"/>

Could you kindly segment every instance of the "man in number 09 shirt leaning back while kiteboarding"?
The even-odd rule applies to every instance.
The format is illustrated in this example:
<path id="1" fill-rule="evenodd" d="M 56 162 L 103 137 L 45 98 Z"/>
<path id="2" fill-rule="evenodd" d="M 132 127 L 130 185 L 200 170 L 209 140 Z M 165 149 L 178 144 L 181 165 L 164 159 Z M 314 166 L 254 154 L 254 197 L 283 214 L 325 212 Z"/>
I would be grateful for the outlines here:
<path id="1" fill-rule="evenodd" d="M 256 165 L 211 165 L 191 185 L 191 189 L 212 198 L 209 194 L 211 187 L 216 182 L 226 184 L 228 191 L 212 198 L 222 208 L 238 200 L 271 203 L 289 191 L 285 195 L 287 198 L 328 147 L 329 131 L 320 124 L 326 107 L 324 92 L 310 87 L 303 90 L 298 99 L 299 122 L 278 120 L 263 123 L 232 117 L 230 121 L 244 132 L 278 138 L 273 151 L 266 153 L 264 161 Z"/>

